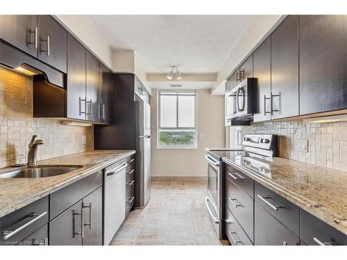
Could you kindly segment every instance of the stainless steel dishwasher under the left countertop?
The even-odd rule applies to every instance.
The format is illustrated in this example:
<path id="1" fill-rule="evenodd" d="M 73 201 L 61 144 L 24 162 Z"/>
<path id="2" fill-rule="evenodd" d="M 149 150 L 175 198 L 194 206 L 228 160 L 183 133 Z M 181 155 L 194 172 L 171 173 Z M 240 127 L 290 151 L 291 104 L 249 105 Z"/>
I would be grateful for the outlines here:
<path id="1" fill-rule="evenodd" d="M 123 223 L 126 211 L 126 160 L 105 168 L 103 176 L 103 244 L 109 245 Z"/>

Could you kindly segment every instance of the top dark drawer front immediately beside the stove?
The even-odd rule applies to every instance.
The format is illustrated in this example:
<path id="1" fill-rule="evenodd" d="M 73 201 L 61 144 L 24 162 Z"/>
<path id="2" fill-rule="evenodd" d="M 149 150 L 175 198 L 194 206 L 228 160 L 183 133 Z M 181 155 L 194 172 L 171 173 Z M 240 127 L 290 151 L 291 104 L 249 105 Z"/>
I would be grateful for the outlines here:
<path id="1" fill-rule="evenodd" d="M 228 164 L 226 165 L 226 177 L 232 180 L 242 191 L 254 198 L 254 180 L 251 177 L 248 177 L 241 171 L 237 171 L 237 169 Z"/>

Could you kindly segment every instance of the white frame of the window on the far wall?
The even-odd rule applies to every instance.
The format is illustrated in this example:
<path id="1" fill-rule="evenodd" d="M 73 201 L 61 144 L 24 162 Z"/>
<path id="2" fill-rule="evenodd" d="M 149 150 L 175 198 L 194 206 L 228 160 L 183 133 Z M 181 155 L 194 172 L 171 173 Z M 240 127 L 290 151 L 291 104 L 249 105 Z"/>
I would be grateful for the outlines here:
<path id="1" fill-rule="evenodd" d="M 168 128 L 162 128 L 160 126 L 160 92 L 164 93 L 176 93 L 176 128 L 175 127 L 168 127 Z M 179 127 L 178 126 L 178 95 L 177 93 L 194 93 L 194 127 Z M 183 95 L 181 95 L 183 96 Z M 196 149 L 198 148 L 198 124 L 197 124 L 197 117 L 198 117 L 198 111 L 197 111 L 197 92 L 195 89 L 159 89 L 157 92 L 157 148 L 158 149 Z M 194 146 L 163 146 L 160 145 L 160 130 L 194 130 L 195 131 L 195 140 L 194 140 Z"/>

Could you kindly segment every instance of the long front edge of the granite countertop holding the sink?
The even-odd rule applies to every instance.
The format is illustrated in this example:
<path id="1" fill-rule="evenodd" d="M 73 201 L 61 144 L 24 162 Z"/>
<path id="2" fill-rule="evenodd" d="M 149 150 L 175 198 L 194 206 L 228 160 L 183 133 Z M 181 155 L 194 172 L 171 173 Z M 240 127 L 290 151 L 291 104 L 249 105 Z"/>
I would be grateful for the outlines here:
<path id="1" fill-rule="evenodd" d="M 58 186 L 51 187 L 51 189 L 47 189 L 46 191 L 43 191 L 42 193 L 38 193 L 36 196 L 28 197 L 28 200 L 21 200 L 20 203 L 14 203 L 11 207 L 9 207 L 7 210 L 1 210 L 0 211 L 0 218 L 3 216 L 6 216 L 8 214 L 11 214 L 12 212 L 16 211 L 17 209 L 21 209 L 22 207 L 25 207 L 37 200 L 40 200 L 41 198 L 44 198 L 45 196 L 49 196 L 49 194 L 54 193 L 56 191 L 59 191 L 60 189 L 63 189 L 74 182 L 78 182 L 78 180 L 82 180 L 83 178 L 90 176 L 97 171 L 102 170 L 103 168 L 106 168 L 112 164 L 115 164 L 116 162 L 121 161 L 122 159 L 126 159 L 126 157 L 129 157 L 131 155 L 134 155 L 136 153 L 135 150 L 129 150 L 128 153 L 124 153 L 123 155 L 120 155 L 119 157 L 115 157 L 113 159 L 109 159 L 106 162 L 102 162 L 101 164 L 96 164 L 95 166 L 91 166 L 87 169 L 85 169 L 85 172 L 79 173 L 78 175 L 74 175 L 73 177 L 70 177 L 69 179 L 65 180 Z M 76 154 L 75 154 L 76 155 Z M 53 158 L 54 159 L 54 158 Z M 44 162 L 44 161 L 42 161 Z M 41 162 L 38 162 L 40 165 Z"/>

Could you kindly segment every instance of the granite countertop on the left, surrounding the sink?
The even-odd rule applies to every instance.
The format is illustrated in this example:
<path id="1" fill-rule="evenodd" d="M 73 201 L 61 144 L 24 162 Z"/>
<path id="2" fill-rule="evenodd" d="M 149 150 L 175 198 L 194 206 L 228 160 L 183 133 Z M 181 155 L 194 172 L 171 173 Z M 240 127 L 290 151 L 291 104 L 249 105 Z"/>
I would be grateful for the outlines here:
<path id="1" fill-rule="evenodd" d="M 0 218 L 134 153 L 135 150 L 92 150 L 37 162 L 39 165 L 83 166 L 71 173 L 39 178 L 0 178 Z M 1 168 L 0 174 L 9 169 Z"/>

